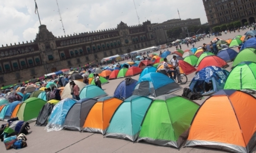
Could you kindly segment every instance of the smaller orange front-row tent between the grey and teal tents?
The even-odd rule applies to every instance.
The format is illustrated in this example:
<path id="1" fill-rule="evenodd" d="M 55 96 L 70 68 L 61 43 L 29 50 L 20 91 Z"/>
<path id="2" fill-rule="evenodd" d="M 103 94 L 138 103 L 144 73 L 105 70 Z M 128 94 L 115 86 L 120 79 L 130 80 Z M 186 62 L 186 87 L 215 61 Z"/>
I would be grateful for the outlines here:
<path id="1" fill-rule="evenodd" d="M 98 99 L 85 119 L 83 131 L 104 135 L 112 115 L 122 102 L 121 99 L 114 97 Z"/>

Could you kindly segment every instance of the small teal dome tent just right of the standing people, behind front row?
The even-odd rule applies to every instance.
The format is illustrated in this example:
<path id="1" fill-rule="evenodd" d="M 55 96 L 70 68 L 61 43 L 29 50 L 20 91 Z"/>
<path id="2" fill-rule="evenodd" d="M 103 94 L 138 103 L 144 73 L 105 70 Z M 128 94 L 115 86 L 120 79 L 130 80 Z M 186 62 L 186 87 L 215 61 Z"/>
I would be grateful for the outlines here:
<path id="1" fill-rule="evenodd" d="M 84 98 L 98 99 L 105 96 L 107 96 L 107 93 L 96 85 L 85 86 L 84 88 L 80 89 L 80 94 L 79 94 L 80 99 L 84 99 Z"/>

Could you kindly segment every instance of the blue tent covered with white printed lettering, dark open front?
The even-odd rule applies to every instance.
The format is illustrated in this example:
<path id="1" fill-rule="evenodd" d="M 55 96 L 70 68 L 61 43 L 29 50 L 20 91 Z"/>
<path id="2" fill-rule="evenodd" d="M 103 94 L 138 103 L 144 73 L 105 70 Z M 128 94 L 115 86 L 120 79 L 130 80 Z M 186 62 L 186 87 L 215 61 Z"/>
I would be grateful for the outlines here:
<path id="1" fill-rule="evenodd" d="M 209 95 L 215 92 L 218 92 L 221 89 L 224 89 L 224 85 L 226 79 L 228 78 L 229 71 L 219 68 L 216 66 L 207 66 L 203 68 L 198 73 L 195 74 L 195 77 L 192 79 L 189 89 L 191 91 L 200 92 L 203 95 Z M 212 83 L 212 90 L 207 91 L 204 93 L 203 84 Z M 211 89 L 211 88 L 210 88 Z"/>

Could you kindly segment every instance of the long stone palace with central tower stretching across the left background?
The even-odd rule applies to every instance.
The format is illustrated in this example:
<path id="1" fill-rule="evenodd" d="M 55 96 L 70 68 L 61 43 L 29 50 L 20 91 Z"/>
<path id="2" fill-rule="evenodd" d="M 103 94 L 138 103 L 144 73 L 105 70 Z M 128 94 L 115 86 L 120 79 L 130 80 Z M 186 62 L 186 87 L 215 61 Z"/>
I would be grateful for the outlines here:
<path id="1" fill-rule="evenodd" d="M 41 25 L 33 42 L 0 47 L 0 85 L 24 82 L 87 63 L 96 64 L 103 57 L 156 46 L 156 42 L 171 42 L 166 30 L 188 24 L 200 24 L 200 19 L 176 19 L 160 24 L 146 21 L 136 26 L 121 22 L 117 28 L 61 37 L 54 36 Z"/>

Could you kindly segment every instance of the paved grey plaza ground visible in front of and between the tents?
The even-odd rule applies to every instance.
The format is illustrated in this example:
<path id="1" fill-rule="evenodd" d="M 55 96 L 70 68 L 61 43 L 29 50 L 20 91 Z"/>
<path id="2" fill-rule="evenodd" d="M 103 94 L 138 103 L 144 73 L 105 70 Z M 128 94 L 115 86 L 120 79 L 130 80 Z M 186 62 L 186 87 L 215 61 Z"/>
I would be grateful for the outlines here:
<path id="1" fill-rule="evenodd" d="M 219 38 L 227 40 L 229 38 L 234 38 L 237 35 L 243 35 L 246 31 L 232 32 L 228 34 L 223 34 Z M 204 38 L 195 44 L 195 47 L 202 46 L 203 43 L 209 43 L 214 36 L 211 38 Z M 186 45 L 181 45 L 182 50 L 190 49 L 192 46 L 187 48 Z M 175 47 L 167 48 L 169 51 L 174 51 Z M 166 49 L 166 50 L 167 50 Z M 237 48 L 234 48 L 235 51 L 238 51 Z M 164 50 L 162 50 L 163 52 Z M 156 53 L 159 53 L 157 51 Z M 127 62 L 122 61 L 120 64 Z M 226 70 L 230 71 L 232 62 L 228 63 L 230 66 Z M 184 85 L 181 85 L 182 88 L 188 87 L 190 81 L 194 77 L 194 74 L 187 75 L 188 82 Z M 139 75 L 132 77 L 133 79 L 139 78 Z M 113 96 L 115 88 L 118 84 L 124 80 L 115 79 L 109 80 L 108 84 L 102 85 L 102 88 L 110 95 Z M 164 81 L 164 80 L 163 80 Z M 172 92 L 171 94 L 181 95 L 183 89 Z M 200 105 L 204 100 L 208 98 L 205 96 L 204 99 L 196 101 Z M 0 121 L 0 125 L 5 124 L 5 122 Z M 30 124 L 32 131 L 31 134 L 27 135 L 27 145 L 28 147 L 20 150 L 6 150 L 4 143 L 0 142 L 0 153 L 213 153 L 213 152 L 223 152 L 221 150 L 209 149 L 203 147 L 194 147 L 194 148 L 180 148 L 180 150 L 171 147 L 161 147 L 158 145 L 148 144 L 144 142 L 133 143 L 128 140 L 123 139 L 114 139 L 114 138 L 103 138 L 102 134 L 94 133 L 79 133 L 78 131 L 70 130 L 61 130 L 46 132 L 45 127 L 34 126 L 35 122 Z M 256 152 L 254 148 L 252 152 Z"/>

